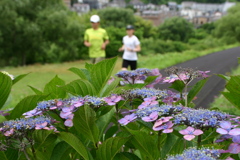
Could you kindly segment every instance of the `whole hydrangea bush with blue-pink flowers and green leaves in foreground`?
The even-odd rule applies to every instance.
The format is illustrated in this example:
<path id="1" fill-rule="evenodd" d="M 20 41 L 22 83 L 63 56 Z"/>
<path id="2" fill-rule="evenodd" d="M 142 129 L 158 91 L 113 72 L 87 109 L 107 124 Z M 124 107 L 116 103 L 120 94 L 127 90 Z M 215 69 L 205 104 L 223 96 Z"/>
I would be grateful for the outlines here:
<path id="1" fill-rule="evenodd" d="M 43 91 L 30 86 L 34 95 L 1 112 L 1 159 L 238 159 L 240 117 L 194 108 L 209 71 L 172 67 L 163 77 L 158 69 L 139 68 L 111 76 L 115 63 L 70 68 L 78 79 L 65 84 L 55 76 Z M 24 76 L 0 73 L 1 108 Z M 239 97 L 239 79 L 221 77 L 229 86 L 224 94 Z M 154 88 L 164 83 L 172 89 Z"/>

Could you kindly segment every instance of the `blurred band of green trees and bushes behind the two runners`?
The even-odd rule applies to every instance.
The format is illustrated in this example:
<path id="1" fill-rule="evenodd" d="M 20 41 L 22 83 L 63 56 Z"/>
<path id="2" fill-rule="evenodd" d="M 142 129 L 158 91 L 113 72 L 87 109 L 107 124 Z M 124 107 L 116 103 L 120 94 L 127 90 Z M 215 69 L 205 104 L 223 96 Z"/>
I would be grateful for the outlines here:
<path id="1" fill-rule="evenodd" d="M 0 66 L 35 63 L 60 63 L 88 59 L 83 45 L 84 31 L 91 27 L 93 14 L 101 17 L 101 27 L 110 37 L 107 58 L 121 56 L 118 48 L 126 35 L 125 26 L 133 24 L 141 41 L 139 55 L 168 54 L 187 50 L 202 51 L 240 41 L 239 4 L 217 22 L 194 28 L 179 17 L 154 26 L 134 14 L 131 7 L 105 8 L 78 15 L 62 0 L 0 1 Z"/>

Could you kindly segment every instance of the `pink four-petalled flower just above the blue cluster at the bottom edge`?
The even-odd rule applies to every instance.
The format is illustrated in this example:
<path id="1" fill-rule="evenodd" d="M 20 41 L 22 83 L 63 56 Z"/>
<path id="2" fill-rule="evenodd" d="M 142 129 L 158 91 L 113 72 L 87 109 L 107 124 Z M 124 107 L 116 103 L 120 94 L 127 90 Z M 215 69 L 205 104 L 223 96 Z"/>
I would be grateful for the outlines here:
<path id="1" fill-rule="evenodd" d="M 203 131 L 200 129 L 194 129 L 193 127 L 188 126 L 186 129 L 179 131 L 182 135 L 184 135 L 184 139 L 191 141 L 195 138 L 195 136 L 199 136 L 203 134 Z"/>

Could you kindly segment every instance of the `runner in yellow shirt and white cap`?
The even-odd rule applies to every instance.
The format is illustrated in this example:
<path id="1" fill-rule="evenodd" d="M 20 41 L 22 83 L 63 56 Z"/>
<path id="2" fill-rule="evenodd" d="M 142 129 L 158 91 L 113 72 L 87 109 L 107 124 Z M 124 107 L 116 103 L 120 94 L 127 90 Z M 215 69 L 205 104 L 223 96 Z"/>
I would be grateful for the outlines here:
<path id="1" fill-rule="evenodd" d="M 84 45 L 89 47 L 89 57 L 92 63 L 98 63 L 106 57 L 106 46 L 109 43 L 109 37 L 105 29 L 100 28 L 100 17 L 93 15 L 90 18 L 92 28 L 85 31 Z"/>

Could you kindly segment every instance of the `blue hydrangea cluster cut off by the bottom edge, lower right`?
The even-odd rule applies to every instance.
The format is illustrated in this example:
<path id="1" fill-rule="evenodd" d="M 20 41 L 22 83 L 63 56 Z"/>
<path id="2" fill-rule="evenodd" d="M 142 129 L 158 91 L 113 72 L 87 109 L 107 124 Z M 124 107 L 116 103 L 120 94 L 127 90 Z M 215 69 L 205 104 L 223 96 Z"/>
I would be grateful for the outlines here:
<path id="1" fill-rule="evenodd" d="M 168 156 L 167 160 L 217 160 L 220 157 L 219 150 L 209 148 L 188 148 L 182 154 Z"/>

